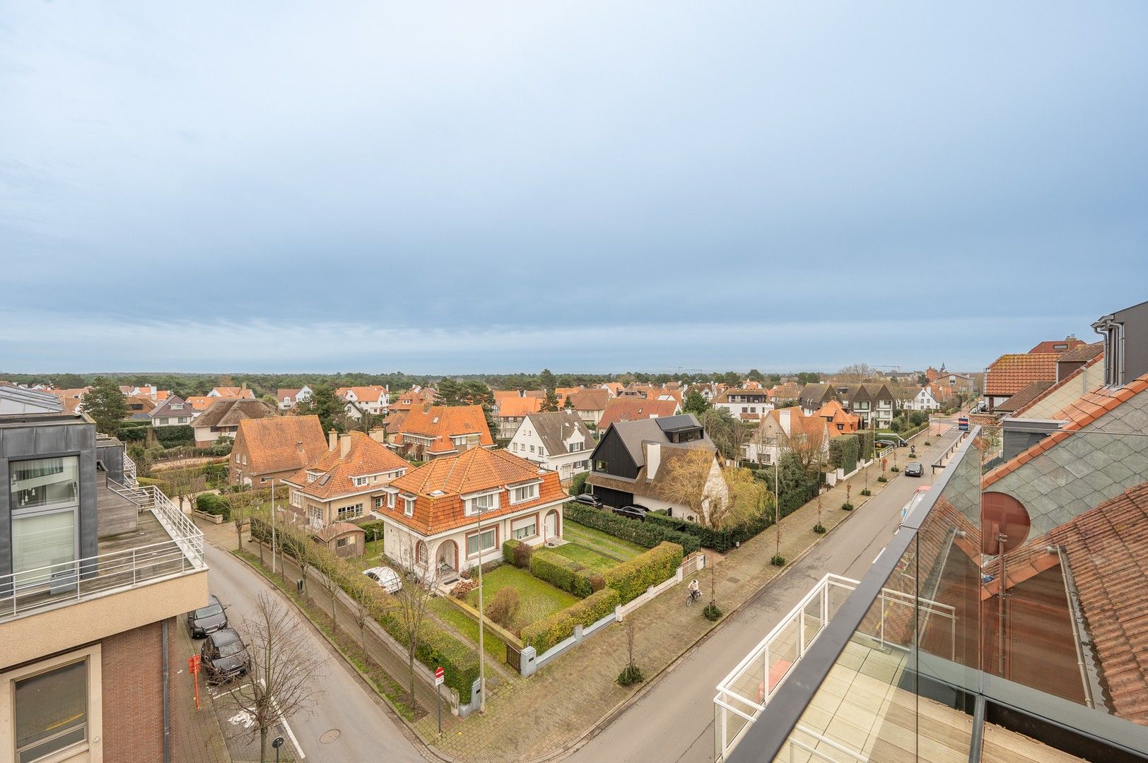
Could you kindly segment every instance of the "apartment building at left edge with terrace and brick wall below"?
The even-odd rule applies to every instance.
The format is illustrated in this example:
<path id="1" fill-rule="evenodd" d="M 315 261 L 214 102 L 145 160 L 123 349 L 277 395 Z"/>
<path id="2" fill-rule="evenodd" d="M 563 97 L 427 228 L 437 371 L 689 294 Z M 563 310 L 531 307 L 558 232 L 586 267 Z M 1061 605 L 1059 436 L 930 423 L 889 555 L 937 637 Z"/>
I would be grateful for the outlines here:
<path id="1" fill-rule="evenodd" d="M 199 760 L 172 740 L 203 535 L 154 488 L 110 483 L 113 449 L 122 464 L 73 413 L 0 415 L 0 760 Z"/>

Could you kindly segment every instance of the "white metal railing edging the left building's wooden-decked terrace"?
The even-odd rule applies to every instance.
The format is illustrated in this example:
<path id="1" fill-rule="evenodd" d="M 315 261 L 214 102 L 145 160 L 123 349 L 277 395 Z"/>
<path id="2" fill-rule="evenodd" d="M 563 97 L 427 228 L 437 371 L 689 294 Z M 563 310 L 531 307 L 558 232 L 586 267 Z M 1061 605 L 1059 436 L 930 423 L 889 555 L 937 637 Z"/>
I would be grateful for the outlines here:
<path id="1" fill-rule="evenodd" d="M 155 492 L 162 498 L 148 511 L 170 540 L 0 575 L 0 620 L 204 569 L 203 532 Z"/>

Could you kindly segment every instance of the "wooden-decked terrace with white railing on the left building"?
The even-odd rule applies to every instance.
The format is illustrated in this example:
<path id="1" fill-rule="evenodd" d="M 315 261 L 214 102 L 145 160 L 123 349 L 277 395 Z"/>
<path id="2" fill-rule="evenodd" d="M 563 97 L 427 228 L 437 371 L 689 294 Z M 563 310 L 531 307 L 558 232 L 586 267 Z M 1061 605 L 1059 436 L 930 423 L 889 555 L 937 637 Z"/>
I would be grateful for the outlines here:
<path id="1" fill-rule="evenodd" d="M 0 664 L 202 606 L 203 534 L 163 491 L 101 473 L 96 505 L 96 554 L 0 576 Z"/>

